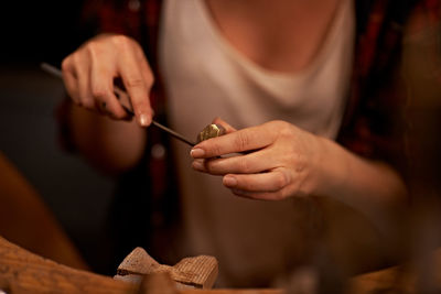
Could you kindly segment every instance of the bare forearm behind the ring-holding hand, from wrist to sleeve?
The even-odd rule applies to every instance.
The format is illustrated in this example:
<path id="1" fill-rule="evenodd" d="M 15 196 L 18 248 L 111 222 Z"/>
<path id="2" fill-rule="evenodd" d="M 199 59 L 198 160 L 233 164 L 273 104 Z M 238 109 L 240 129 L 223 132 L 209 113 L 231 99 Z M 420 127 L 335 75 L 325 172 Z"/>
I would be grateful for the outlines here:
<path id="1" fill-rule="evenodd" d="M 405 183 L 390 166 L 363 159 L 323 139 L 314 194 L 365 214 L 384 233 L 397 233 L 407 204 Z"/>

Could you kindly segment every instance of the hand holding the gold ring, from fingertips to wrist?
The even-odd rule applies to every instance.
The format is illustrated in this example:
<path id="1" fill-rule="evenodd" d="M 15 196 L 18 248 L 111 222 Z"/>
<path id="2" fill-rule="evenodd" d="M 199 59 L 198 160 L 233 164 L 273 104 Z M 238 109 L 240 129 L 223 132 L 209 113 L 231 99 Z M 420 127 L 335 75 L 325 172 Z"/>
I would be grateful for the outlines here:
<path id="1" fill-rule="evenodd" d="M 323 156 L 322 139 L 284 121 L 236 131 L 216 119 L 227 134 L 195 145 L 193 168 L 222 175 L 235 195 L 266 200 L 313 194 Z M 232 153 L 234 156 L 225 156 Z M 219 157 L 223 156 L 223 157 Z"/>

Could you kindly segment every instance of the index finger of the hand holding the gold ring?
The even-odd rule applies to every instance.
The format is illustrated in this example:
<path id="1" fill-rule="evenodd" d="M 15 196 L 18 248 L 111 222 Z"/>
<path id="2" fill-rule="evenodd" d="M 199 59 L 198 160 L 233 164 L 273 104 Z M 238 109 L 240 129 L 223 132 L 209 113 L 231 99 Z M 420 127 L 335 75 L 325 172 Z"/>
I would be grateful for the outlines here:
<path id="1" fill-rule="evenodd" d="M 265 124 L 246 128 L 236 132 L 212 138 L 195 145 L 191 155 L 194 159 L 209 159 L 230 153 L 258 150 L 273 142 L 275 132 Z"/>

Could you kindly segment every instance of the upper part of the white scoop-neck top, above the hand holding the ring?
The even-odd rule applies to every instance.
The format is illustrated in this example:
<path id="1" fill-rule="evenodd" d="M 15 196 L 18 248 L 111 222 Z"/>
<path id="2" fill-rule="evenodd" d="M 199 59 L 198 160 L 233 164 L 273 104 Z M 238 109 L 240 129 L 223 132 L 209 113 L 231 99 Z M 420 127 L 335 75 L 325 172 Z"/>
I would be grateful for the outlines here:
<path id="1" fill-rule="evenodd" d="M 312 64 L 284 74 L 238 52 L 202 0 L 165 1 L 160 67 L 173 128 L 184 134 L 198 131 L 217 116 L 236 128 L 281 119 L 333 138 L 352 53 L 352 34 L 341 34 L 353 26 L 352 9 L 342 8 Z"/>

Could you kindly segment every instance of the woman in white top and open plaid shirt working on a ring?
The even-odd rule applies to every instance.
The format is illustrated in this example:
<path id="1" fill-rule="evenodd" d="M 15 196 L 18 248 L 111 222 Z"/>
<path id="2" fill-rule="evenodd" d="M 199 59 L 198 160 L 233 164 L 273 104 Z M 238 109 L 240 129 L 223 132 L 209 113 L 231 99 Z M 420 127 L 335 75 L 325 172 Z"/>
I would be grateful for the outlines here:
<path id="1" fill-rule="evenodd" d="M 354 2 L 104 3 L 97 19 L 110 33 L 63 61 L 77 105 L 128 119 L 112 90 L 118 78 L 136 113 L 120 123 L 74 108 L 76 148 L 118 173 L 150 156 L 142 164 L 160 181 L 148 179 L 153 199 L 172 186 L 164 186 L 158 165 L 175 157 L 182 224 L 172 251 L 215 255 L 219 285 L 269 285 L 280 273 L 333 258 L 344 274 L 366 270 L 378 255 L 383 261 L 384 252 L 374 261 L 372 251 L 397 240 L 407 192 L 398 172 L 405 97 L 395 87 L 402 33 L 396 28 L 406 28 L 419 7 L 378 0 L 354 9 Z M 154 80 L 162 87 L 149 98 Z M 153 113 L 160 120 L 166 113 L 187 137 L 220 117 L 214 122 L 227 134 L 195 145 L 191 157 L 173 141 L 169 154 L 154 129 L 144 129 Z M 235 153 L 243 154 L 228 155 Z M 332 222 L 347 219 L 327 218 L 334 209 L 356 221 L 338 235 L 347 238 L 343 243 L 333 243 Z M 356 235 L 359 228 L 369 232 Z M 163 239 L 153 242 L 163 249 Z M 357 257 L 342 253 L 357 242 Z"/>

